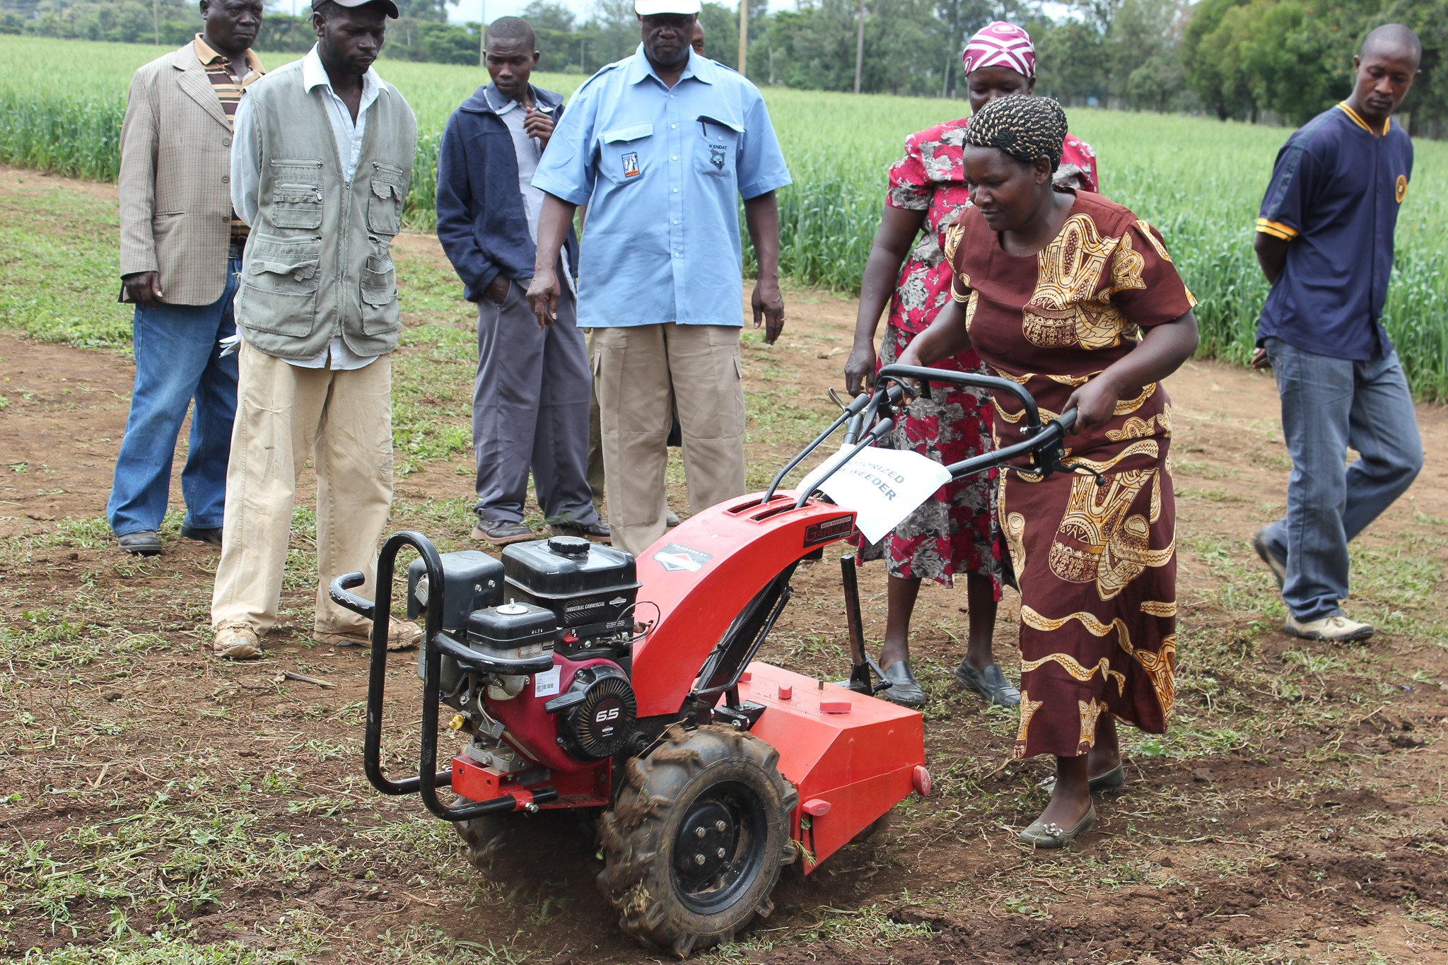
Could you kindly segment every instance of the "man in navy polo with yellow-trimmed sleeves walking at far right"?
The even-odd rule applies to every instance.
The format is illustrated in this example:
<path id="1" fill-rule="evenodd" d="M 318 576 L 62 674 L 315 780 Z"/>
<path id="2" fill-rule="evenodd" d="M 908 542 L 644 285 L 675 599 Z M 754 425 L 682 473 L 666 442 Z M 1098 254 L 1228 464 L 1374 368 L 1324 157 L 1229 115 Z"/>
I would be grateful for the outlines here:
<path id="1" fill-rule="evenodd" d="M 1306 639 L 1367 639 L 1348 619 L 1348 541 L 1418 476 L 1423 449 L 1407 381 L 1383 328 L 1393 229 L 1413 177 L 1413 145 L 1389 120 L 1422 43 L 1400 23 L 1367 35 L 1352 94 L 1308 122 L 1277 155 L 1257 218 L 1271 291 L 1253 366 L 1271 367 L 1292 456 L 1287 515 L 1253 537 Z M 1361 459 L 1347 466 L 1347 450 Z"/>

